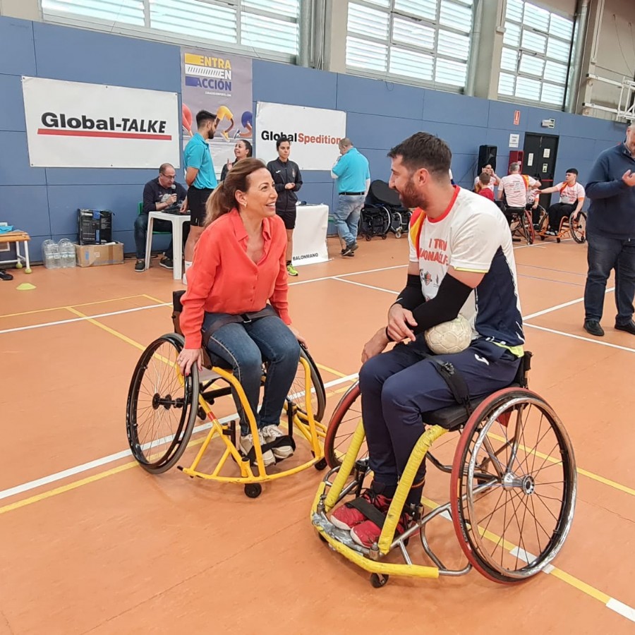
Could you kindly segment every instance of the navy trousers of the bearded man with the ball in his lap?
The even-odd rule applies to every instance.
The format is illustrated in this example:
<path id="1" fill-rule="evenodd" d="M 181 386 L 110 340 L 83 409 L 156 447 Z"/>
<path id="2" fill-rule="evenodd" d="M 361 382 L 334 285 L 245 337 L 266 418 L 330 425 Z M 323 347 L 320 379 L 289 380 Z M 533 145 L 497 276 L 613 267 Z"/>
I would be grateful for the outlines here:
<path id="1" fill-rule="evenodd" d="M 422 413 L 456 404 L 423 338 L 371 357 L 359 372 L 362 421 L 370 469 L 377 483 L 397 485 L 423 433 Z M 512 383 L 520 360 L 507 349 L 478 339 L 461 353 L 439 355 L 463 375 L 471 397 L 490 394 Z M 425 476 L 425 461 L 415 483 Z"/>

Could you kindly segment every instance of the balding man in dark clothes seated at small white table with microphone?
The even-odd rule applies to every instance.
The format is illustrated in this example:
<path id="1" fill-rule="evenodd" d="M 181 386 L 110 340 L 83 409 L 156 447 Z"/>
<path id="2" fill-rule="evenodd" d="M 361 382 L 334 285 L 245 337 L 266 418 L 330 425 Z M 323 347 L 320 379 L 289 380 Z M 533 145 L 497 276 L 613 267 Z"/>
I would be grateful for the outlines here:
<path id="1" fill-rule="evenodd" d="M 179 202 L 185 200 L 186 189 L 181 183 L 176 183 L 176 171 L 174 166 L 164 163 L 159 167 L 159 176 L 152 181 L 148 181 L 143 188 L 143 208 L 138 217 L 135 218 L 135 246 L 137 262 L 135 271 L 145 271 L 145 240 L 147 236 L 147 215 L 150 212 L 163 212 L 168 207 L 174 207 Z M 178 207 L 176 207 L 178 210 Z M 166 220 L 155 219 L 152 224 L 154 231 L 172 231 L 172 224 Z M 183 227 L 183 240 L 187 238 L 187 230 Z M 159 265 L 166 269 L 174 267 L 172 262 L 172 241 L 165 250 Z"/>

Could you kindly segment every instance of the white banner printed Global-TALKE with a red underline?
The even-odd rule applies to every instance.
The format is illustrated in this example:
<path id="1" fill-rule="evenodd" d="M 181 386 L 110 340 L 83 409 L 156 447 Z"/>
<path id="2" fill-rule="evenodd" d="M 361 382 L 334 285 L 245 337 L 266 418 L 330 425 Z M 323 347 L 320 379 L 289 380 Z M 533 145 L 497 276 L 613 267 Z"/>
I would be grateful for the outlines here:
<path id="1" fill-rule="evenodd" d="M 23 77 L 32 167 L 180 167 L 176 92 Z"/>

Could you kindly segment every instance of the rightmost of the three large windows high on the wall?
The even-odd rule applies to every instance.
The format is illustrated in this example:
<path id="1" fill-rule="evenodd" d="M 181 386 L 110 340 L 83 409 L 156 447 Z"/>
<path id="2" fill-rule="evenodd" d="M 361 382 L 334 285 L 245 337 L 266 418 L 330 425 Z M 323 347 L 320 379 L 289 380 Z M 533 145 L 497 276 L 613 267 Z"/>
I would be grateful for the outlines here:
<path id="1" fill-rule="evenodd" d="M 507 0 L 502 20 L 498 99 L 564 110 L 576 37 L 574 16 L 529 0 Z M 529 95 L 536 90 L 537 95 Z"/>

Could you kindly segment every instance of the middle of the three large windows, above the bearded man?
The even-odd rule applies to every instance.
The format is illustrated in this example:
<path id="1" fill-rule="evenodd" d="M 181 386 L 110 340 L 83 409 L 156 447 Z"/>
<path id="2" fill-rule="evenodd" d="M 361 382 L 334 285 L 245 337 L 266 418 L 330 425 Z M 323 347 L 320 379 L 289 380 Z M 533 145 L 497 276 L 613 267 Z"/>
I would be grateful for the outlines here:
<path id="1" fill-rule="evenodd" d="M 464 92 L 475 5 L 474 0 L 350 0 L 346 72 Z M 452 9 L 469 14 L 469 24 L 457 26 Z"/>

